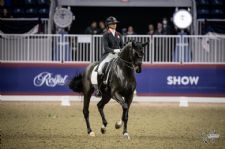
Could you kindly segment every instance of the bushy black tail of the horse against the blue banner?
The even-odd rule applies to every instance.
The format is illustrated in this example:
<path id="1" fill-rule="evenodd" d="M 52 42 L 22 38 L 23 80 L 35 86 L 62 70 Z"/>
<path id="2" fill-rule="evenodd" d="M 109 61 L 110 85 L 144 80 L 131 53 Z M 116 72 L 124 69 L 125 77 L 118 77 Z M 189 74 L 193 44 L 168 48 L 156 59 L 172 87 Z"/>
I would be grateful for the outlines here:
<path id="1" fill-rule="evenodd" d="M 69 88 L 74 92 L 83 92 L 83 73 L 75 76 L 69 83 Z"/>

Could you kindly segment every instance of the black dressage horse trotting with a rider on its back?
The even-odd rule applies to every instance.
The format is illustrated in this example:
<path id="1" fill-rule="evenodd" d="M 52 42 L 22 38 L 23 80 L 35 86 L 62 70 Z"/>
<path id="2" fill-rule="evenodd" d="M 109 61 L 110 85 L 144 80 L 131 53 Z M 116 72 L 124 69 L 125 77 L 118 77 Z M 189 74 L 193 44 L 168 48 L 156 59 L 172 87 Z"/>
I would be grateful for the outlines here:
<path id="1" fill-rule="evenodd" d="M 124 125 L 123 135 L 130 138 L 127 132 L 128 111 L 133 100 L 133 93 L 136 88 L 135 71 L 141 72 L 142 59 L 144 56 L 143 47 L 148 43 L 128 42 L 118 57 L 110 62 L 108 83 L 103 84 L 102 80 L 98 79 L 102 98 L 97 104 L 98 110 L 102 117 L 101 132 L 106 132 L 107 121 L 105 119 L 103 108 L 111 98 L 116 100 L 123 109 L 122 120 L 116 122 L 115 128 L 118 129 Z M 91 74 L 97 62 L 90 64 L 84 73 L 75 76 L 70 82 L 69 87 L 74 92 L 81 92 L 84 94 L 83 114 L 87 124 L 87 131 L 90 136 L 95 136 L 89 122 L 89 103 L 94 86 L 91 82 Z M 94 70 L 95 71 L 95 70 Z"/>

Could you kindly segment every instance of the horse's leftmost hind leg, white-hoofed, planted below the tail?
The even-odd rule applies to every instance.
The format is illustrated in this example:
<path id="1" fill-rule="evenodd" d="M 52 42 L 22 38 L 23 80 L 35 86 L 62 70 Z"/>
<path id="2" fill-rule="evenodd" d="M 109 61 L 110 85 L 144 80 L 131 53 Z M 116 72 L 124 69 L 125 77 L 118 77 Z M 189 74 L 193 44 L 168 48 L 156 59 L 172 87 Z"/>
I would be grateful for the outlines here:
<path id="1" fill-rule="evenodd" d="M 89 122 L 89 103 L 90 103 L 91 93 L 84 95 L 84 105 L 83 105 L 83 114 L 87 125 L 87 132 L 90 136 L 95 136 L 94 132 L 91 130 Z"/>

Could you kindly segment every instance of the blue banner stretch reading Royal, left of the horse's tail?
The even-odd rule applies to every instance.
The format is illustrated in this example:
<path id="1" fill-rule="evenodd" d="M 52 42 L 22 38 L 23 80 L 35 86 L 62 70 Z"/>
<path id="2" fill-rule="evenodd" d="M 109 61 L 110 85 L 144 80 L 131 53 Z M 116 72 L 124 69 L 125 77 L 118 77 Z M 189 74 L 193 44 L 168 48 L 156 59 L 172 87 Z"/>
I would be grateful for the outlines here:
<path id="1" fill-rule="evenodd" d="M 68 94 L 69 80 L 86 65 L 6 64 L 0 67 L 1 94 Z"/>

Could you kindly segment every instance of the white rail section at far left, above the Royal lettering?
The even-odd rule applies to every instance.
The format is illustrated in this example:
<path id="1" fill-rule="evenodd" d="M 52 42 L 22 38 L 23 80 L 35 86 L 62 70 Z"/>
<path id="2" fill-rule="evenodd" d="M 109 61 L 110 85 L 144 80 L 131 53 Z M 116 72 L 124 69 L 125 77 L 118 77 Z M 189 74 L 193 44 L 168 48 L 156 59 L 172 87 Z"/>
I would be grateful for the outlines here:
<path id="1" fill-rule="evenodd" d="M 3 62 L 60 62 L 61 35 L 0 34 L 0 60 Z"/>

